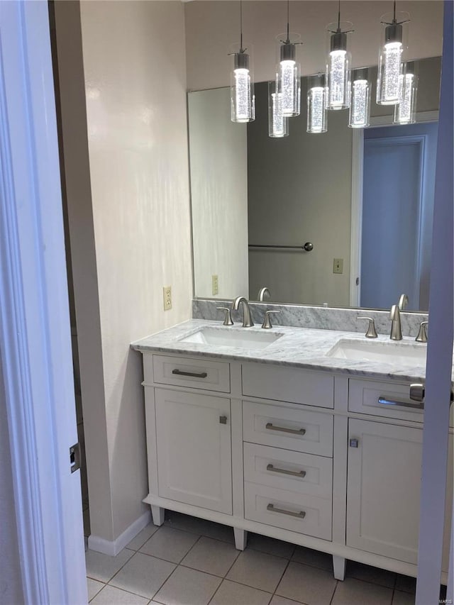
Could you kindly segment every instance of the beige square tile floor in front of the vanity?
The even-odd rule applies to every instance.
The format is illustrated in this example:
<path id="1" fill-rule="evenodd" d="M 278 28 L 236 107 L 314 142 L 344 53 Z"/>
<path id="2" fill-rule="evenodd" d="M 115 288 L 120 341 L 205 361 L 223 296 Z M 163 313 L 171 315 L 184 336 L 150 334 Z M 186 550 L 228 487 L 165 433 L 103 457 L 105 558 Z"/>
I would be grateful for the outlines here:
<path id="1" fill-rule="evenodd" d="M 256 534 L 240 552 L 231 528 L 177 513 L 116 557 L 86 555 L 93 605 L 414 604 L 413 578 L 348 562 L 338 582 L 329 555 Z"/>

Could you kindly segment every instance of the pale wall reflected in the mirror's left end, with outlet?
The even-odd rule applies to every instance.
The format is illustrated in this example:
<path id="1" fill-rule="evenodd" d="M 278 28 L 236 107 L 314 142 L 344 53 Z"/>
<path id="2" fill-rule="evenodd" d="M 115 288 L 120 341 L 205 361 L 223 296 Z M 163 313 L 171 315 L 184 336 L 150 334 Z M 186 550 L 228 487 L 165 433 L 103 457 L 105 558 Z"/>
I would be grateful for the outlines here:
<path id="1" fill-rule="evenodd" d="M 211 298 L 248 296 L 248 138 L 234 124 L 228 88 L 188 96 L 194 289 Z"/>

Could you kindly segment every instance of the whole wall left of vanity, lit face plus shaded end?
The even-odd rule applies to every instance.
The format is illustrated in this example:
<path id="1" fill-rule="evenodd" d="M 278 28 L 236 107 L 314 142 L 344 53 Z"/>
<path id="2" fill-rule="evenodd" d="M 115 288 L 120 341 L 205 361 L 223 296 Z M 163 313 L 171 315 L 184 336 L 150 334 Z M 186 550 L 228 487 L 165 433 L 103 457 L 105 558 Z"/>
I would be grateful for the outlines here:
<path id="1" fill-rule="evenodd" d="M 148 493 L 142 360 L 129 343 L 191 315 L 184 8 L 55 12 L 90 522 L 111 541 Z"/>

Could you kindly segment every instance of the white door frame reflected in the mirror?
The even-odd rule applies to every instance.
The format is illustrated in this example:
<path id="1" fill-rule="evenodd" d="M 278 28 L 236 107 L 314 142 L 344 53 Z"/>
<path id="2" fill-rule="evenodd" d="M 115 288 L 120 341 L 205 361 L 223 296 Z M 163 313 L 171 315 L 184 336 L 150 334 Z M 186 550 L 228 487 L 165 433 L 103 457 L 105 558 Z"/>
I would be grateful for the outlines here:
<path id="1" fill-rule="evenodd" d="M 439 111 L 421 111 L 416 114 L 417 123 L 437 122 Z M 390 116 L 370 118 L 371 128 L 394 126 Z M 421 136 L 421 135 L 415 135 Z M 364 129 L 353 128 L 352 138 L 352 201 L 350 218 L 350 306 L 360 306 L 360 288 L 357 278 L 361 275 L 362 239 L 362 181 L 364 178 Z M 422 195 L 422 190 L 421 190 Z"/>

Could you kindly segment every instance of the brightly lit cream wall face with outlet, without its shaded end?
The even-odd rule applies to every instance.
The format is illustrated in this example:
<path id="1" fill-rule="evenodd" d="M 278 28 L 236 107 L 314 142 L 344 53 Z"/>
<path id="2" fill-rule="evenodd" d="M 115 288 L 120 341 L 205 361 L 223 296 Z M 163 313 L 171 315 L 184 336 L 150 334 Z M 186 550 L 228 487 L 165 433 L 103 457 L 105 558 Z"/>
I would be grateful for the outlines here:
<path id="1" fill-rule="evenodd" d="M 191 314 L 184 8 L 179 1 L 82 2 L 81 21 L 118 536 L 140 516 L 147 494 L 143 372 L 129 343 Z M 167 285 L 173 307 L 163 311 Z"/>

